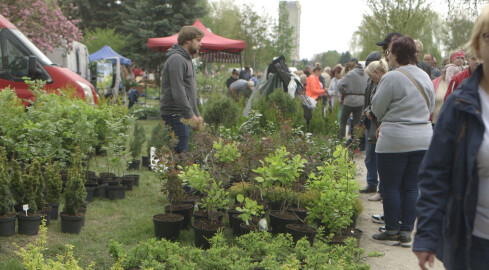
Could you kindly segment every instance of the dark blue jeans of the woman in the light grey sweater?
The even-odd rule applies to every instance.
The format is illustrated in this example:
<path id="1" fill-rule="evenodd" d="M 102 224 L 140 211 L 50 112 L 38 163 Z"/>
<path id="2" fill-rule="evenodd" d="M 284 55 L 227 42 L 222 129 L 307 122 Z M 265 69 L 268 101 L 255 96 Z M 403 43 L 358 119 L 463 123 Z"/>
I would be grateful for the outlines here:
<path id="1" fill-rule="evenodd" d="M 412 231 L 414 228 L 418 170 L 425 152 L 377 153 L 387 230 Z"/>

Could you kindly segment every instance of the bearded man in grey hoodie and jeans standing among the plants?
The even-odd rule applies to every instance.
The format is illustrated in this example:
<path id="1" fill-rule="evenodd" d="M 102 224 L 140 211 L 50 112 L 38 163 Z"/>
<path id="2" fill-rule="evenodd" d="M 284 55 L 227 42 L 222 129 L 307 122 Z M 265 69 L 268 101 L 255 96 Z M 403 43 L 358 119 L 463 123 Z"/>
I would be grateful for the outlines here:
<path id="1" fill-rule="evenodd" d="M 176 153 L 188 151 L 190 126 L 182 118 L 203 123 L 197 107 L 197 89 L 192 56 L 199 53 L 204 32 L 195 26 L 184 26 L 178 33 L 178 44 L 168 50 L 163 67 L 160 113 L 165 124 L 178 137 Z"/>

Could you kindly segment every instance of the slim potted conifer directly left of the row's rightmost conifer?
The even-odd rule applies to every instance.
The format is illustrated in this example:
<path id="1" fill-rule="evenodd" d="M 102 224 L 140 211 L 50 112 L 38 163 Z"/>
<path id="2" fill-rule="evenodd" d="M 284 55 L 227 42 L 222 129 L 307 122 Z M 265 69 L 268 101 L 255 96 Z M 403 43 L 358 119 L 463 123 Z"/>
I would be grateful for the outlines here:
<path id="1" fill-rule="evenodd" d="M 44 179 L 46 181 L 46 202 L 51 206 L 51 220 L 58 219 L 59 201 L 61 191 L 63 190 L 63 181 L 61 180 L 60 166 L 56 162 L 48 163 L 44 171 Z"/>

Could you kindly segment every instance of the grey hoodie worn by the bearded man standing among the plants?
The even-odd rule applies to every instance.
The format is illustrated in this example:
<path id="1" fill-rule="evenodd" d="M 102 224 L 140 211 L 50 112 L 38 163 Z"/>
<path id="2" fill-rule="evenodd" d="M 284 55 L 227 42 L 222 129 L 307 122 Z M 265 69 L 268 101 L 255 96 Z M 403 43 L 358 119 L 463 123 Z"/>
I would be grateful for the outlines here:
<path id="1" fill-rule="evenodd" d="M 183 114 L 185 118 L 200 116 L 192 58 L 180 45 L 168 50 L 161 82 L 161 115 Z"/>

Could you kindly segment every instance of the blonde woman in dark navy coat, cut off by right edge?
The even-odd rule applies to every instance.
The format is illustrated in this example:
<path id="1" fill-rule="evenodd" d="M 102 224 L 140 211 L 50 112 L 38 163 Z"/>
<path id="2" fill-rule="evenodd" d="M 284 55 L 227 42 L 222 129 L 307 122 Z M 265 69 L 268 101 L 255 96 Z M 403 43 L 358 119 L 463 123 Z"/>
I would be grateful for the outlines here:
<path id="1" fill-rule="evenodd" d="M 421 269 L 489 267 L 489 5 L 468 43 L 483 64 L 444 103 L 419 171 L 417 233 Z"/>

